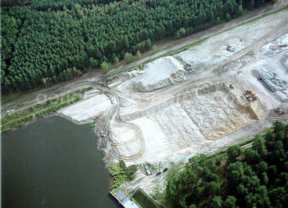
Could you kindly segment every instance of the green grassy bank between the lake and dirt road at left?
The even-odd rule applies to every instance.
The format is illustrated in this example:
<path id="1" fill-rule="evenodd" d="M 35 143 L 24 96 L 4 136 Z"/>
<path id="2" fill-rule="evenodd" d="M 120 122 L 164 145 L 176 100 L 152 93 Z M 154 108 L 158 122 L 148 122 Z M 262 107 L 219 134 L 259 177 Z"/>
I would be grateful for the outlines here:
<path id="1" fill-rule="evenodd" d="M 45 103 L 37 104 L 12 114 L 3 115 L 1 116 L 1 132 L 8 132 L 12 128 L 23 126 L 27 122 L 43 118 L 63 107 L 78 102 L 82 100 L 82 97 L 79 97 L 78 94 L 83 94 L 91 88 L 92 87 L 86 87 L 76 90 L 58 98 L 48 99 Z"/>

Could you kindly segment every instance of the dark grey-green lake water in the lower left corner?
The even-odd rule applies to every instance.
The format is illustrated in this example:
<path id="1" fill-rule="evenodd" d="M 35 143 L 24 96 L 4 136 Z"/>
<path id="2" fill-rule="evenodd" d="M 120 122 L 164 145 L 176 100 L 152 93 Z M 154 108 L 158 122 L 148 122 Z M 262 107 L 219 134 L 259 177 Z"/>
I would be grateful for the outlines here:
<path id="1" fill-rule="evenodd" d="M 1 207 L 120 207 L 89 124 L 52 115 L 1 137 Z"/>

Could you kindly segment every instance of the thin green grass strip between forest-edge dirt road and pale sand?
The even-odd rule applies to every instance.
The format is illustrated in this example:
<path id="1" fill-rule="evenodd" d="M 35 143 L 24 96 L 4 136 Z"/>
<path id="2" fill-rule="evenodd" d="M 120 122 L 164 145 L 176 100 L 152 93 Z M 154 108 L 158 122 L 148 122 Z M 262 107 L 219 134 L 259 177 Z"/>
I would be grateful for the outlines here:
<path id="1" fill-rule="evenodd" d="M 280 10 L 277 10 L 277 11 L 272 11 L 272 12 L 270 12 L 270 13 L 268 13 L 268 14 L 263 15 L 263 16 L 254 18 L 254 19 L 249 20 L 249 21 L 247 21 L 247 22 L 243 22 L 243 23 L 241 23 L 241 24 L 239 24 L 239 25 L 237 25 L 237 26 L 234 26 L 234 27 L 232 27 L 232 28 L 228 28 L 228 29 L 223 30 L 223 31 L 221 31 L 221 32 L 218 32 L 218 33 L 216 33 L 216 34 L 214 34 L 214 35 L 211 35 L 211 36 L 209 36 L 209 37 L 203 38 L 203 39 L 201 39 L 201 40 L 199 40 L 199 41 L 196 41 L 196 42 L 194 42 L 194 43 L 192 43 L 192 44 L 190 44 L 190 45 L 183 46 L 183 47 L 181 47 L 181 48 L 179 48 L 179 49 L 177 49 L 177 50 L 175 50 L 175 51 L 171 51 L 171 52 L 168 52 L 168 53 L 164 53 L 163 55 L 160 55 L 160 56 L 158 56 L 158 57 L 156 57 L 156 58 L 154 58 L 154 59 L 151 59 L 151 60 L 149 60 L 149 61 L 146 61 L 146 62 L 144 62 L 144 63 L 141 63 L 141 64 L 139 64 L 139 65 L 137 65 L 137 66 L 134 66 L 134 67 L 132 67 L 132 68 L 123 70 L 123 71 L 121 71 L 121 72 L 118 72 L 118 73 L 113 74 L 113 75 L 111 75 L 111 76 L 108 76 L 108 77 L 106 77 L 106 78 L 103 78 L 103 79 L 99 80 L 98 82 L 99 82 L 99 83 L 103 83 L 103 82 L 105 82 L 106 80 L 113 79 L 113 78 L 115 78 L 115 77 L 117 77 L 117 76 L 119 76 L 119 75 L 121 75 L 121 74 L 123 74 L 123 73 L 125 73 L 125 72 L 131 72 L 131 71 L 133 71 L 133 70 L 139 70 L 139 69 L 140 69 L 140 70 L 143 70 L 143 69 L 144 69 L 144 65 L 147 64 L 147 63 L 149 63 L 149 62 L 152 62 L 152 61 L 154 61 L 154 60 L 156 60 L 156 59 L 159 59 L 159 58 L 161 58 L 161 57 L 171 56 L 171 55 L 175 55 L 175 54 L 177 54 L 177 53 L 180 53 L 180 52 L 182 52 L 182 51 L 186 51 L 186 50 L 188 50 L 189 48 L 191 48 L 191 47 L 193 47 L 193 46 L 200 45 L 201 43 L 203 43 L 204 41 L 206 41 L 207 39 L 209 39 L 209 38 L 211 38 L 211 37 L 213 37 L 213 36 L 219 35 L 219 34 L 221 34 L 221 33 L 223 33 L 223 32 L 227 32 L 227 31 L 229 31 L 229 30 L 232 30 L 232 29 L 234 29 L 234 28 L 236 28 L 236 27 L 239 27 L 239 26 L 242 26 L 242 25 L 255 22 L 255 21 L 260 20 L 260 19 L 262 19 L 262 18 L 264 18 L 264 17 L 266 17 L 266 16 L 269 16 L 269 15 L 272 15 L 272 14 L 276 14 L 276 13 L 282 11 L 282 10 L 288 10 L 288 6 L 287 6 L 287 7 L 284 7 L 283 9 L 280 9 Z M 247 12 L 248 12 L 248 10 L 245 10 L 245 13 L 244 13 L 244 14 L 246 14 Z M 226 22 L 226 21 L 225 21 L 225 22 Z M 216 25 L 215 25 L 215 26 L 216 26 Z M 160 50 L 160 51 L 161 51 L 161 50 Z M 157 52 L 159 52 L 159 51 L 156 51 L 156 53 L 157 53 Z M 137 68 L 138 68 L 138 69 L 137 69 Z"/>

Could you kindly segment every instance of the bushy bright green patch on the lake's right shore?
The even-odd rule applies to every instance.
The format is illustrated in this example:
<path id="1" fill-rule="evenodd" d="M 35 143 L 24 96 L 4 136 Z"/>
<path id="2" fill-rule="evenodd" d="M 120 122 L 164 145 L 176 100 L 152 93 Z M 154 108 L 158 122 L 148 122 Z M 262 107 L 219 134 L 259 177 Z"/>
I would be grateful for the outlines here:
<path id="1" fill-rule="evenodd" d="M 135 178 L 134 173 L 137 169 L 137 165 L 127 167 L 123 160 L 109 165 L 110 174 L 114 177 L 112 189 L 118 188 L 125 182 L 132 181 Z"/>

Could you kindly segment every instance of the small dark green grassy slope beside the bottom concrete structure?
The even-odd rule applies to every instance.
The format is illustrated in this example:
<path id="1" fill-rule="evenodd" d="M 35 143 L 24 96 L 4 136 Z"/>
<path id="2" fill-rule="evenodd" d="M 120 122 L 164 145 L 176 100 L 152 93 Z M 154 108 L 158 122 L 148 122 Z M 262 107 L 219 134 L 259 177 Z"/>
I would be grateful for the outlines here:
<path id="1" fill-rule="evenodd" d="M 151 200 L 150 197 L 139 188 L 136 193 L 131 197 L 131 199 L 139 206 L 139 207 L 151 207 L 151 208 L 162 208 L 161 205 L 157 204 L 155 201 Z"/>

